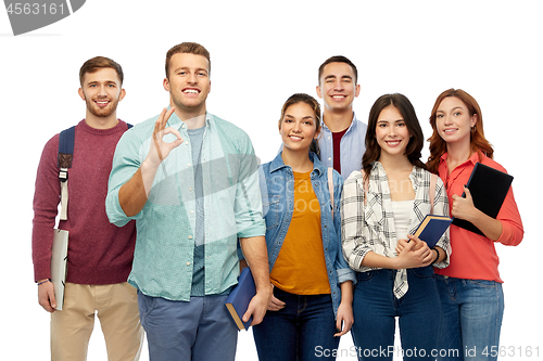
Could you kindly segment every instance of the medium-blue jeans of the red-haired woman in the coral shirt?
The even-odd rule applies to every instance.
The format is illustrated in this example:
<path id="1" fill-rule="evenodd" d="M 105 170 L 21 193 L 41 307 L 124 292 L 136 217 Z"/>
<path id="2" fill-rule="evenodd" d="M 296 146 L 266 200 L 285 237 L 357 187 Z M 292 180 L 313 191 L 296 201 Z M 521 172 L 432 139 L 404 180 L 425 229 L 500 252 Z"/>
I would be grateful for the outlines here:
<path id="1" fill-rule="evenodd" d="M 440 361 L 497 360 L 504 314 L 502 284 L 437 276 L 441 298 Z"/>

